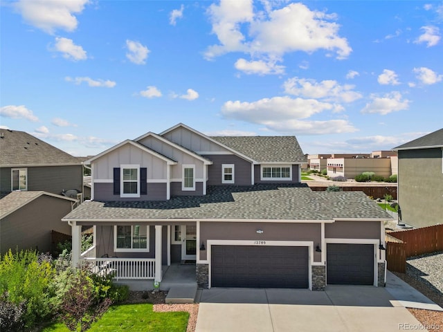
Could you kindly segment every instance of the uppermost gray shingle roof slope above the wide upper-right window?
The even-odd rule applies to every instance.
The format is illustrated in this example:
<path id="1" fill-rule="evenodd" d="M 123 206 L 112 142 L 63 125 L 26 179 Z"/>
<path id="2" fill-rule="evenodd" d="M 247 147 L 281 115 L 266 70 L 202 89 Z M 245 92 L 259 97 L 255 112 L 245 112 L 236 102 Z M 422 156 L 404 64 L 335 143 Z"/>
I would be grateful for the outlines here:
<path id="1" fill-rule="evenodd" d="M 295 136 L 212 136 L 221 144 L 259 163 L 305 163 Z"/>

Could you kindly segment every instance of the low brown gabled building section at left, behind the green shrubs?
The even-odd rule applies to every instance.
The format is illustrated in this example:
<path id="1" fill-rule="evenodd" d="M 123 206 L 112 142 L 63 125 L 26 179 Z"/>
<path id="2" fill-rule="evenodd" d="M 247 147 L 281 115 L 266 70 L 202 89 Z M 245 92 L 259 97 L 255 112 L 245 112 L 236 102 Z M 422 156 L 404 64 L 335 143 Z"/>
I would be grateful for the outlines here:
<path id="1" fill-rule="evenodd" d="M 11 192 L 0 199 L 0 255 L 9 249 L 50 252 L 51 232 L 71 234 L 60 220 L 73 210 L 76 199 L 49 192 Z"/>

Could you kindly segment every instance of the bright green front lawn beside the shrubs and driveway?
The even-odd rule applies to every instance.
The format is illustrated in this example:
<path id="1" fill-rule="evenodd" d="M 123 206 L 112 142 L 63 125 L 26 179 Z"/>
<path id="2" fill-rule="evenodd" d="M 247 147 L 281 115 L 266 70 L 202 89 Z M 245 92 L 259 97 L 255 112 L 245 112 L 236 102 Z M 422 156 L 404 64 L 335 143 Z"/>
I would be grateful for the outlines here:
<path id="1" fill-rule="evenodd" d="M 154 313 L 152 304 L 119 304 L 111 306 L 105 315 L 92 324 L 89 332 L 185 332 L 189 313 Z M 69 332 L 62 323 L 47 326 L 41 332 Z"/>

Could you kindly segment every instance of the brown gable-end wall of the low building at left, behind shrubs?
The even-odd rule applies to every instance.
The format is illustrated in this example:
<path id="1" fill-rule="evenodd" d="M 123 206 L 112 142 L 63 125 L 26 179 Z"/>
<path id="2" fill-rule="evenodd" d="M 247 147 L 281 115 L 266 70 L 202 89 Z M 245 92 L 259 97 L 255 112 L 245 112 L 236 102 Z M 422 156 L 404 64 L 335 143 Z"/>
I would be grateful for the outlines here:
<path id="1" fill-rule="evenodd" d="M 51 251 L 51 230 L 71 234 L 71 227 L 61 221 L 71 212 L 72 201 L 40 196 L 0 220 L 0 254 L 26 249 Z"/>

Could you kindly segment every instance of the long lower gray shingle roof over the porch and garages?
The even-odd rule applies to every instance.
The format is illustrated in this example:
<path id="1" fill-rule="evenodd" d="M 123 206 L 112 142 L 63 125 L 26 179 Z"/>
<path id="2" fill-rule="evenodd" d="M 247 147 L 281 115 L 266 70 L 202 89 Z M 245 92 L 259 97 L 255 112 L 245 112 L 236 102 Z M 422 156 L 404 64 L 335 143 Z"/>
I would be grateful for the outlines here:
<path id="1" fill-rule="evenodd" d="M 312 192 L 300 185 L 209 186 L 206 196 L 170 201 L 84 202 L 63 220 L 111 219 L 392 219 L 363 192 Z"/>

